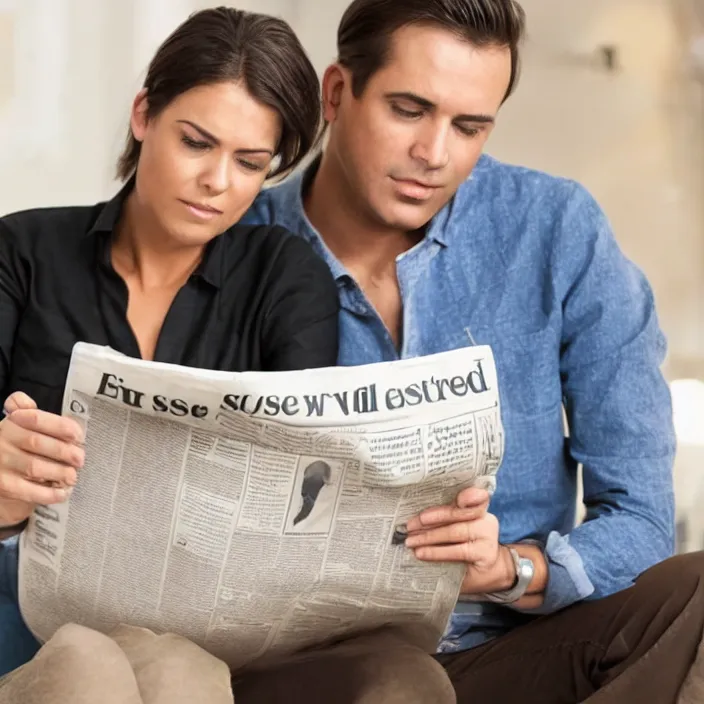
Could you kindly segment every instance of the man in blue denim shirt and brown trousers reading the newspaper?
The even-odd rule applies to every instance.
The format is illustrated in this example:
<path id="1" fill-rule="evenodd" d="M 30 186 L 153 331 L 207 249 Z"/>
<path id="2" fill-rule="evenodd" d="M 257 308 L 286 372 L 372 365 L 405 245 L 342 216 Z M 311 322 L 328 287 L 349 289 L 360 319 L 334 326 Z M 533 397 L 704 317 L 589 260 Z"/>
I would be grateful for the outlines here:
<path id="1" fill-rule="evenodd" d="M 664 341 L 588 193 L 482 156 L 523 30 L 512 0 L 354 0 L 324 76 L 324 153 L 248 218 L 328 262 L 341 364 L 494 350 L 506 449 L 491 513 L 465 492 L 473 509 L 408 526 L 420 559 L 467 564 L 436 656 L 458 700 L 673 702 L 701 639 L 704 570 L 701 554 L 663 562 Z"/>

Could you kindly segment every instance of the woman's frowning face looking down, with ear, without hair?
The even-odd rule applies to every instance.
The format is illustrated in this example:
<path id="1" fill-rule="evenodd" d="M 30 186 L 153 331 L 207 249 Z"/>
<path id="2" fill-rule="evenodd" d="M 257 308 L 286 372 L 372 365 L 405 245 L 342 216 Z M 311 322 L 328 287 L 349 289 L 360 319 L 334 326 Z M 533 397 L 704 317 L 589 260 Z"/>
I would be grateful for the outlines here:
<path id="1" fill-rule="evenodd" d="M 131 118 L 142 143 L 139 212 L 179 244 L 205 244 L 236 223 L 259 193 L 281 119 L 230 82 L 193 88 L 152 119 L 146 111 L 140 94 Z"/>

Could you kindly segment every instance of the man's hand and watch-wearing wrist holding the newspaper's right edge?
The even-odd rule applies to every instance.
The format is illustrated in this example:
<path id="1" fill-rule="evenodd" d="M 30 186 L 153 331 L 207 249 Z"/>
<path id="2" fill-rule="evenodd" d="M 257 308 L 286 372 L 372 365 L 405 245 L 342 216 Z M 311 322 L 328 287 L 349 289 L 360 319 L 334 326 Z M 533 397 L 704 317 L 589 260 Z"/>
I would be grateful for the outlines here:
<path id="1" fill-rule="evenodd" d="M 455 503 L 426 509 L 407 524 L 406 546 L 419 560 L 463 562 L 467 572 L 461 592 L 466 595 L 502 592 L 513 587 L 516 569 L 508 550 L 499 543 L 499 521 L 488 512 L 489 493 L 464 489 Z M 527 596 L 517 602 L 521 608 L 536 608 L 542 603 L 539 592 L 545 589 L 547 565 L 542 552 L 529 545 L 517 545 L 519 554 L 530 557 L 535 577 Z"/>

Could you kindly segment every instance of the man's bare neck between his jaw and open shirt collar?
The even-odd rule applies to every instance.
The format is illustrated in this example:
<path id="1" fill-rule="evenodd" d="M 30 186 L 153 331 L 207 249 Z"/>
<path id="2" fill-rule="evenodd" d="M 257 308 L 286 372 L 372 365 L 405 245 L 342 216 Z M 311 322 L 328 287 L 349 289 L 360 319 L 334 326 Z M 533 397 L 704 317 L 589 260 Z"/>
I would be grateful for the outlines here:
<path id="1" fill-rule="evenodd" d="M 313 227 L 346 267 L 371 276 L 389 272 L 396 258 L 418 243 L 422 234 L 393 230 L 365 216 L 361 201 L 345 187 L 329 157 L 320 166 L 303 194 L 303 206 Z"/>

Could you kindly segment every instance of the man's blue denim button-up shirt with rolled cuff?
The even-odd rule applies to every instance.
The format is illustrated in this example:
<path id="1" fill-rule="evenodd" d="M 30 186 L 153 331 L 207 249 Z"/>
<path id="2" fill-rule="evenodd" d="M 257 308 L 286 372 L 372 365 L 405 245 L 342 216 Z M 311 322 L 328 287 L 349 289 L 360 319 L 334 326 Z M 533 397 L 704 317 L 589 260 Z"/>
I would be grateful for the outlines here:
<path id="1" fill-rule="evenodd" d="M 307 219 L 304 183 L 299 173 L 264 191 L 245 222 L 283 225 L 327 261 L 342 306 L 340 364 L 493 348 L 506 445 L 490 510 L 502 542 L 545 546 L 539 612 L 624 589 L 669 557 L 675 442 L 659 371 L 665 342 L 647 281 L 587 191 L 482 157 L 424 239 L 398 257 L 399 352 Z M 586 519 L 575 527 L 579 464 Z M 524 621 L 508 608 L 460 603 L 440 650 Z"/>

